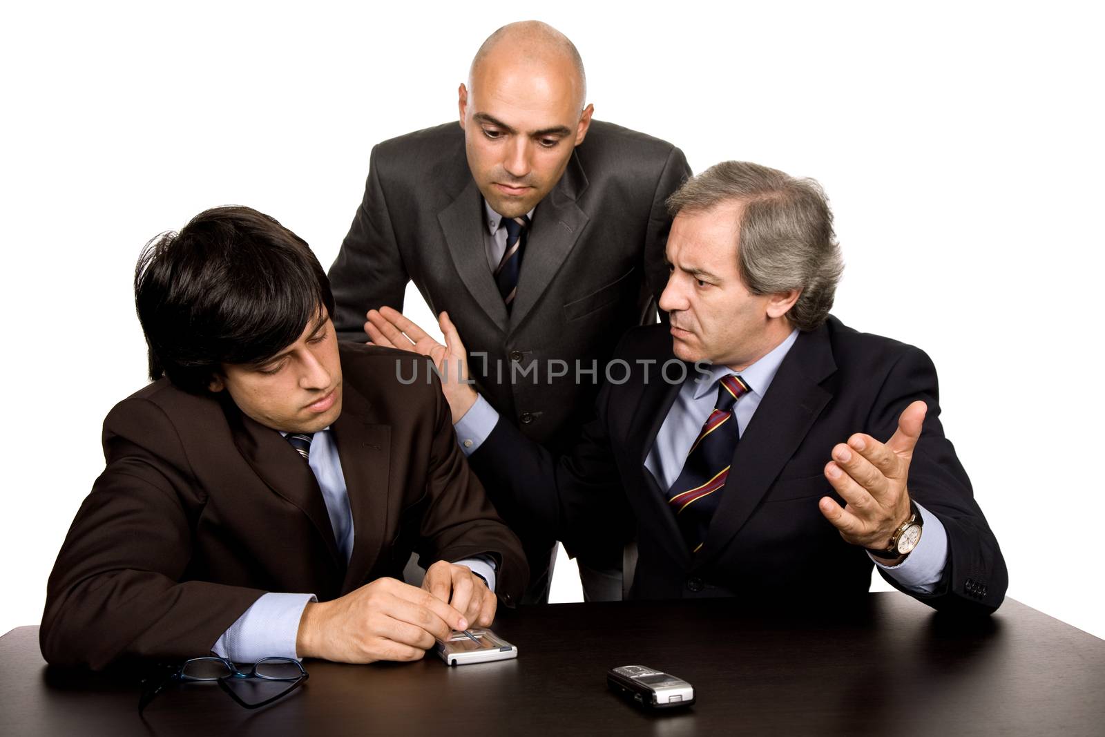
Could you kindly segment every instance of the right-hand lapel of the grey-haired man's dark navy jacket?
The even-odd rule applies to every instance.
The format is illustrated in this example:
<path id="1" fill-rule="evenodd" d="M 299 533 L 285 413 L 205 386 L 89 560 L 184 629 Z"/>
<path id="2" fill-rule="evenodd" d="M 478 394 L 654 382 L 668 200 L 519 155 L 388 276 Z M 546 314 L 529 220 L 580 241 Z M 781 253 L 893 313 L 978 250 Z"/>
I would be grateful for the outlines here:
<path id="1" fill-rule="evenodd" d="M 695 569 L 715 558 L 748 522 L 832 399 L 832 393 L 820 383 L 835 370 L 824 326 L 799 335 L 737 443 L 734 472 L 725 485 L 706 541 L 695 556 Z"/>

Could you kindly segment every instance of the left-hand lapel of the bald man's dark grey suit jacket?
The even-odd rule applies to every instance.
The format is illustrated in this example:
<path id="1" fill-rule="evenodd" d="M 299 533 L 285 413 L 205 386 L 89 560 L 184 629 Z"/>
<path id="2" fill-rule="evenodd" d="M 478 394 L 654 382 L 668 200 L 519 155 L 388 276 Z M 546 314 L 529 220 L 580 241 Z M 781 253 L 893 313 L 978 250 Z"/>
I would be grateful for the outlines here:
<path id="1" fill-rule="evenodd" d="M 475 180 L 469 177 L 469 183 L 460 196 L 438 213 L 438 222 L 441 223 L 453 265 L 456 266 L 464 286 L 495 325 L 506 333 L 506 305 L 503 304 L 491 269 L 487 267 L 487 253 L 484 246 L 486 229 L 483 227 L 482 212 L 483 199 L 480 188 L 476 187 Z M 528 252 L 526 255 L 528 256 Z"/>

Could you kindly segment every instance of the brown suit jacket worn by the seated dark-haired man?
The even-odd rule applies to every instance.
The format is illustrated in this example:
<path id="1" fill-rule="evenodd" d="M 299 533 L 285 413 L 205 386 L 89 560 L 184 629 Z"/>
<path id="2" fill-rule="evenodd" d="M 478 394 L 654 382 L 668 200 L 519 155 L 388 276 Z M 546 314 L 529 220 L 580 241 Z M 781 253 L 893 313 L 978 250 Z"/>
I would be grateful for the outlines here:
<path id="1" fill-rule="evenodd" d="M 161 379 L 104 421 L 107 467 L 50 576 L 40 633 L 51 663 L 102 668 L 130 657 L 208 654 L 266 591 L 326 601 L 373 579 L 490 552 L 497 591 L 528 579 L 517 538 L 470 472 L 436 379 L 376 346 L 340 346 L 344 407 L 332 425 L 352 509 L 348 566 L 311 468 L 225 392 Z"/>

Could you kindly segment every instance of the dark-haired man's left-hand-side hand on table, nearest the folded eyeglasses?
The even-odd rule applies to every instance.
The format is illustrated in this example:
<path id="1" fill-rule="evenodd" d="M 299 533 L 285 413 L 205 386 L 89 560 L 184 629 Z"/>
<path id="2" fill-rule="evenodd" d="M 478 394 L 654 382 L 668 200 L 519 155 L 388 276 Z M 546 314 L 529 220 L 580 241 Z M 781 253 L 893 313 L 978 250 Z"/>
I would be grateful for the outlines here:
<path id="1" fill-rule="evenodd" d="M 430 592 L 380 578 L 340 599 L 308 603 L 295 652 L 339 663 L 417 661 L 467 620 Z"/>

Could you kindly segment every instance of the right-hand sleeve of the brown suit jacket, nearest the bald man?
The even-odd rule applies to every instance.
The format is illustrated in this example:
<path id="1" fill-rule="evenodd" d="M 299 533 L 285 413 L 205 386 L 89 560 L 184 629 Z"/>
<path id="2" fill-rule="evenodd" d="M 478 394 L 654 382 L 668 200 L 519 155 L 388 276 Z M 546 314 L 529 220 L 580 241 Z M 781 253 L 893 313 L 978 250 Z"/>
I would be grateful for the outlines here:
<path id="1" fill-rule="evenodd" d="M 429 370 L 429 369 L 428 369 Z M 429 413 L 434 428 L 427 477 L 427 508 L 422 514 L 419 564 L 462 560 L 482 554 L 497 558 L 495 592 L 504 603 L 522 598 L 529 580 L 522 543 L 488 502 L 456 443 L 449 404 L 441 385 L 433 380 L 435 404 Z"/>

